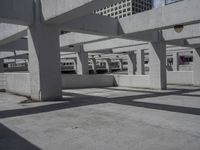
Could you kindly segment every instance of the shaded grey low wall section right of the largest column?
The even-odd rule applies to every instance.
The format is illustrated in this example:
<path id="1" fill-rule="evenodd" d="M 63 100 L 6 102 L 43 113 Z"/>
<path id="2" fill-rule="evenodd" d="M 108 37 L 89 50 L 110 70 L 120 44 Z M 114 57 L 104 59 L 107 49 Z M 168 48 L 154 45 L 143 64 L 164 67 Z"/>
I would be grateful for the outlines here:
<path id="1" fill-rule="evenodd" d="M 62 75 L 64 89 L 72 88 L 98 88 L 114 85 L 112 75 Z"/>

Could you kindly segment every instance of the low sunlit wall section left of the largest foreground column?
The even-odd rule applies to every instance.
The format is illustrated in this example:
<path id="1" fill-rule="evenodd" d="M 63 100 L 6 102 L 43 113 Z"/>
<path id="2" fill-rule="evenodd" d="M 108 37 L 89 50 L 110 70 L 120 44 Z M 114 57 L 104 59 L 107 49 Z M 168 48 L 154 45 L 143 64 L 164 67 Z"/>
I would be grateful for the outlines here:
<path id="1" fill-rule="evenodd" d="M 6 77 L 6 91 L 30 96 L 29 73 L 3 73 L 3 76 Z"/>

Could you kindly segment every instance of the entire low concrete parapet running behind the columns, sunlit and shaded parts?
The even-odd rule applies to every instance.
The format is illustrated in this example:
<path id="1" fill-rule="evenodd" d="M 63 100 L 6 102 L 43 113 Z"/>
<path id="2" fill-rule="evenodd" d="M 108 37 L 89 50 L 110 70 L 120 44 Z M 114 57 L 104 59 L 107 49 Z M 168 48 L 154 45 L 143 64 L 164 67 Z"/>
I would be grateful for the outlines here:
<path id="1" fill-rule="evenodd" d="M 192 84 L 192 71 L 167 72 L 168 84 Z M 111 86 L 150 88 L 149 75 L 62 75 L 63 89 Z M 0 90 L 30 96 L 29 73 L 1 73 Z"/>

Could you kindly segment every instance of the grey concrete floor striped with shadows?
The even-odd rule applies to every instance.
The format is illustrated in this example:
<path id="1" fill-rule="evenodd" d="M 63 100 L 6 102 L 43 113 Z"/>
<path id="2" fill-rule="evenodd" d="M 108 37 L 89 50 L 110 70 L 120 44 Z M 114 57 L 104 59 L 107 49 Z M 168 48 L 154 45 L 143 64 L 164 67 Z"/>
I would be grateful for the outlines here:
<path id="1" fill-rule="evenodd" d="M 0 150 L 200 150 L 200 87 L 63 90 L 26 103 L 0 93 Z"/>

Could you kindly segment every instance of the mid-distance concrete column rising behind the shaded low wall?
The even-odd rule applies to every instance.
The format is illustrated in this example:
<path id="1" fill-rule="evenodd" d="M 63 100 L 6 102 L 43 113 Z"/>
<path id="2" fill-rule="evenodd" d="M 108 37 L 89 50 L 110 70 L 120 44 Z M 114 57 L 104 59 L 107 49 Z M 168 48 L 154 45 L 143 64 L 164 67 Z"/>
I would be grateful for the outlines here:
<path id="1" fill-rule="evenodd" d="M 77 46 L 77 74 L 89 74 L 88 53 L 84 52 L 83 46 Z"/>

